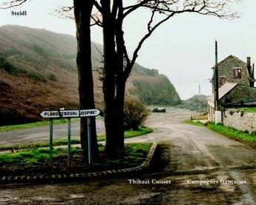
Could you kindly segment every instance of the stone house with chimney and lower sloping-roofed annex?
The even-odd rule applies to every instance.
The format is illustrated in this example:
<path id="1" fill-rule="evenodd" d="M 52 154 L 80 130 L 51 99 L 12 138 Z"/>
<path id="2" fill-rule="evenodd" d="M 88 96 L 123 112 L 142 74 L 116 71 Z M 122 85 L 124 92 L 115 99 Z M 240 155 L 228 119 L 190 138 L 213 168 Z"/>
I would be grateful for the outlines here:
<path id="1" fill-rule="evenodd" d="M 219 105 L 226 107 L 243 107 L 256 105 L 256 88 L 254 64 L 247 57 L 244 62 L 235 56 L 228 56 L 218 64 Z M 214 70 L 214 68 L 213 68 Z M 209 121 L 215 120 L 214 75 L 211 79 L 212 95 L 208 101 Z M 216 113 L 217 115 L 218 113 Z M 220 120 L 221 121 L 221 120 Z"/>

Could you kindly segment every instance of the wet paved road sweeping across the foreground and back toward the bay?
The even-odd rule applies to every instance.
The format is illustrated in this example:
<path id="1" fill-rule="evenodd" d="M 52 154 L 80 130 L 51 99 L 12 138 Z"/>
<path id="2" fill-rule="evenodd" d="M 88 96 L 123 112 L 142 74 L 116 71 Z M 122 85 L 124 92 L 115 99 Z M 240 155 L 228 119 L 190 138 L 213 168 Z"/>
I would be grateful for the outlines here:
<path id="1" fill-rule="evenodd" d="M 256 150 L 206 127 L 183 124 L 189 115 L 185 110 L 155 113 L 148 120 L 153 133 L 127 140 L 160 142 L 163 169 L 157 169 L 162 166 L 158 164 L 154 172 L 130 177 L 150 184 L 113 178 L 2 186 L 0 204 L 256 204 Z M 153 184 L 151 180 L 171 184 Z M 196 184 L 198 181 L 209 184 Z"/>

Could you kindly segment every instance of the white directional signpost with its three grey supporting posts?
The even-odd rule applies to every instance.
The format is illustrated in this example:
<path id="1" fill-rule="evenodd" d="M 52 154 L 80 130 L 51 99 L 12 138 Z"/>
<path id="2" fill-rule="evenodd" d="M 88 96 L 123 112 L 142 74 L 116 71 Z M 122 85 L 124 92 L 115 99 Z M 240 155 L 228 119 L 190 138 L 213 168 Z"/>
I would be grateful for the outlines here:
<path id="1" fill-rule="evenodd" d="M 68 118 L 68 167 L 71 164 L 71 118 L 87 118 L 88 164 L 91 164 L 91 117 L 99 115 L 98 109 L 90 110 L 50 110 L 40 113 L 42 118 L 50 118 L 50 165 L 53 166 L 53 118 Z"/>

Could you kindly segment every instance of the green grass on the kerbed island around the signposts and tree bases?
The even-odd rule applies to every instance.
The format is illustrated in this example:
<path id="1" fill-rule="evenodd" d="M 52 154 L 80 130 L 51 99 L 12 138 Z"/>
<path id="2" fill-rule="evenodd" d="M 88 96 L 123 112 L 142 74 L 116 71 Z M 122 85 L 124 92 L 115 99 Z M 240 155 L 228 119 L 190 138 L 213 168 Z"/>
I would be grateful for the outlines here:
<path id="1" fill-rule="evenodd" d="M 96 163 L 96 166 L 102 166 L 103 164 L 111 165 L 126 165 L 126 166 L 137 166 L 142 163 L 145 156 L 148 154 L 151 148 L 151 143 L 132 143 L 125 144 L 125 151 L 115 158 L 104 159 Z M 78 147 L 72 147 L 72 155 L 77 155 L 82 153 L 82 149 Z M 104 147 L 99 146 L 99 152 L 103 154 Z M 53 149 L 53 161 L 61 157 L 67 156 L 67 149 L 57 148 Z M 48 148 L 35 148 L 35 149 L 24 149 L 19 152 L 0 154 L 0 165 L 13 165 L 18 164 L 18 166 L 26 166 L 27 164 L 44 163 L 50 159 Z"/>

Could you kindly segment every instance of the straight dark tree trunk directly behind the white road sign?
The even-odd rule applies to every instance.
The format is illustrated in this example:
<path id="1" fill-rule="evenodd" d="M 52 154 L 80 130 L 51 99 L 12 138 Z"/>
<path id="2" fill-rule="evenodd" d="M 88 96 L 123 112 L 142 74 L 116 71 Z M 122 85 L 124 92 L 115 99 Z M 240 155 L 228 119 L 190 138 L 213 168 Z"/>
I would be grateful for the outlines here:
<path id="1" fill-rule="evenodd" d="M 76 64 L 79 78 L 80 109 L 93 109 L 93 72 L 91 64 L 91 11 L 93 0 L 73 0 L 74 16 L 76 19 L 77 56 Z M 88 129 L 87 118 L 81 118 L 80 138 L 83 150 L 83 161 L 88 163 Z M 91 118 L 92 160 L 99 156 L 96 140 L 96 122 Z"/>

